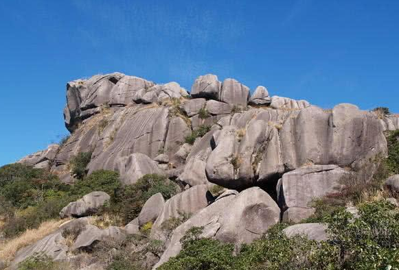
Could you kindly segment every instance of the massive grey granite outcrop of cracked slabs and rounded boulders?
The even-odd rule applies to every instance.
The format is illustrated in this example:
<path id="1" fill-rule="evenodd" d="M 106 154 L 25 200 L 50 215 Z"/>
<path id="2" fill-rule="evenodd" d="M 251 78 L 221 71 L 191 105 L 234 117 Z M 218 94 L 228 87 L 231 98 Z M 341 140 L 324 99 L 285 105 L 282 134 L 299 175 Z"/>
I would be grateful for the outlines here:
<path id="1" fill-rule="evenodd" d="M 176 82 L 161 85 L 122 73 L 69 82 L 64 116 L 70 138 L 20 162 L 73 183 L 71 157 L 92 152 L 89 174 L 113 170 L 124 184 L 134 184 L 157 173 L 185 186 L 150 212 L 151 236 L 160 239 L 166 238 L 161 221 L 195 213 L 173 233 L 160 265 L 179 253 L 179 240 L 192 226 L 203 226 L 207 237 L 249 243 L 281 220 L 309 217 L 313 198 L 339 188 L 350 169 L 386 156 L 384 132 L 399 129 L 394 114 L 345 103 L 323 110 L 270 97 L 263 86 L 250 96 L 247 86 L 215 75 L 198 77 L 190 93 Z M 230 190 L 207 206 L 214 184 Z M 139 221 L 125 229 L 136 227 Z"/>

